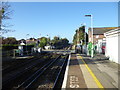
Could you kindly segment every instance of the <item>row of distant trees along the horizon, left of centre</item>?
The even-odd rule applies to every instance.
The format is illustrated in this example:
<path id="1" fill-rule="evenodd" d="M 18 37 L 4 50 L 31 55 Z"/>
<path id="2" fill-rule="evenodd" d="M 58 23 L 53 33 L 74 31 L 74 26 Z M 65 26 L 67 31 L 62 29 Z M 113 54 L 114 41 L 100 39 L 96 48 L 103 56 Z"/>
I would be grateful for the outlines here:
<path id="1" fill-rule="evenodd" d="M 60 38 L 55 36 L 52 40 L 50 40 L 50 38 L 46 38 L 46 37 L 41 37 L 38 39 L 35 38 L 30 38 L 29 40 L 25 40 L 25 39 L 21 39 L 21 40 L 16 40 L 16 38 L 14 37 L 8 37 L 8 38 L 0 38 L 2 40 L 2 45 L 19 45 L 21 42 L 23 43 L 27 43 L 27 45 L 34 45 L 35 47 L 41 47 L 44 48 L 44 46 L 46 45 L 51 45 L 51 46 L 55 46 L 56 49 L 63 49 L 68 47 L 69 41 L 67 38 Z M 33 40 L 34 39 L 34 40 Z M 31 44 L 29 44 L 29 43 Z M 32 44 L 33 43 L 33 44 Z"/>

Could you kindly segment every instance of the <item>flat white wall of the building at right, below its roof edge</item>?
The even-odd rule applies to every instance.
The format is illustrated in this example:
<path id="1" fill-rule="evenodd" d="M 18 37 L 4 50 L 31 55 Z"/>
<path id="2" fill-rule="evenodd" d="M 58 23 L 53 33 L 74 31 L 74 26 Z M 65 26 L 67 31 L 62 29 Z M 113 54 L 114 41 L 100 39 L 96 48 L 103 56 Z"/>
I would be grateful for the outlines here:
<path id="1" fill-rule="evenodd" d="M 106 33 L 105 55 L 109 57 L 109 60 L 118 63 L 118 37 L 120 38 L 120 35 L 113 32 Z"/>

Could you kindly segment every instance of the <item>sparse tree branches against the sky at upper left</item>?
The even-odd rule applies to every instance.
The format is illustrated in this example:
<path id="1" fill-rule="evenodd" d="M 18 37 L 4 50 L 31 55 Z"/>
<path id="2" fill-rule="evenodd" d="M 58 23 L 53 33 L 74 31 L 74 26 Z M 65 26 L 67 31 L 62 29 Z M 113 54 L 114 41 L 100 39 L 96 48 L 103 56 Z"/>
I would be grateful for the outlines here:
<path id="1" fill-rule="evenodd" d="M 8 27 L 12 26 L 4 23 L 5 20 L 11 19 L 10 15 L 12 14 L 12 10 L 10 9 L 10 4 L 8 2 L 2 2 L 0 4 L 0 35 L 14 31 L 8 29 Z"/>

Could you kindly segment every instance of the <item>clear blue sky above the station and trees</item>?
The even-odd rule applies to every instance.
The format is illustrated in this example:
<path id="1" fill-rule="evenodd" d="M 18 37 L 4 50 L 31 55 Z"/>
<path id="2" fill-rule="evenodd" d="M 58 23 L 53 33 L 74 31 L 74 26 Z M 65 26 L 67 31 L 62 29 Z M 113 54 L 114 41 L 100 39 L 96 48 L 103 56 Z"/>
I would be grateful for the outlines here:
<path id="1" fill-rule="evenodd" d="M 118 26 L 118 2 L 10 2 L 10 5 L 12 19 L 5 22 L 12 24 L 9 28 L 15 32 L 3 36 L 18 40 L 59 36 L 72 42 L 81 24 L 88 31 L 91 23 L 86 14 L 93 15 L 93 27 Z"/>

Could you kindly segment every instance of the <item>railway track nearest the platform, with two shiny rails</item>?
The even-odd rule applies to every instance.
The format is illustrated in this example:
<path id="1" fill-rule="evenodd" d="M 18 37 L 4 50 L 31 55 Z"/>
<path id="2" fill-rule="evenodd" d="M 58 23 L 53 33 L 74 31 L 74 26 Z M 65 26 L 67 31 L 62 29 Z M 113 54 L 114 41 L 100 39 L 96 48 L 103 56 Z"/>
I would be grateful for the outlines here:
<path id="1" fill-rule="evenodd" d="M 64 74 L 65 65 L 67 63 L 68 56 L 61 58 L 62 56 L 57 57 L 52 62 L 43 66 L 33 77 L 30 77 L 24 83 L 22 83 L 17 90 L 25 89 L 56 89 L 61 87 L 62 80 L 61 73 Z M 34 78 L 35 77 L 35 78 Z"/>

